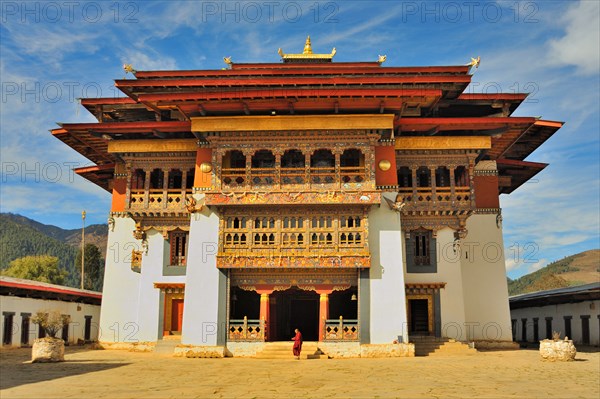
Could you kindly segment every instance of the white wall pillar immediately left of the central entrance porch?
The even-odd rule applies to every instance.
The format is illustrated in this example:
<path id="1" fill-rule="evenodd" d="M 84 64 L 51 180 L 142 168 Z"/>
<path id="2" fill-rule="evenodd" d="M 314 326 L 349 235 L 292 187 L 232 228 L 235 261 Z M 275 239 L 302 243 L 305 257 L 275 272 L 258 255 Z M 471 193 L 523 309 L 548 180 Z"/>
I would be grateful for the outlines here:
<path id="1" fill-rule="evenodd" d="M 219 270 L 216 255 L 219 216 L 204 207 L 191 216 L 183 307 L 182 343 L 216 346 L 219 310 Z"/>

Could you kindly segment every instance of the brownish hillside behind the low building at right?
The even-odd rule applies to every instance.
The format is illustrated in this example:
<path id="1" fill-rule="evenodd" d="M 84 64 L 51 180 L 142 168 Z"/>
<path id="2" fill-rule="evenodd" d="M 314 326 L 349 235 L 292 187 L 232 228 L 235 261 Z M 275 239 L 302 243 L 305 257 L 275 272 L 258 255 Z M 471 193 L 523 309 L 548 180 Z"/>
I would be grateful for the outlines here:
<path id="1" fill-rule="evenodd" d="M 600 281 L 600 249 L 581 252 L 548 264 L 516 280 L 508 280 L 508 294 L 543 291 Z"/>

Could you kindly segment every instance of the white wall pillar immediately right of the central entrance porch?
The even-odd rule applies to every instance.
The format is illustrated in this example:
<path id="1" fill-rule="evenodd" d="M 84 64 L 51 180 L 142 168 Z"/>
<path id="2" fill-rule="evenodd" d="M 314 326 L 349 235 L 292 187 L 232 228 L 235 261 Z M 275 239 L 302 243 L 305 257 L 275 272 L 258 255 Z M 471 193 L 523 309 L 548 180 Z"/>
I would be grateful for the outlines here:
<path id="1" fill-rule="evenodd" d="M 383 196 L 395 199 L 395 193 L 384 193 L 382 204 L 369 212 L 372 344 L 389 344 L 398 336 L 408 342 L 400 214 L 390 210 Z"/>

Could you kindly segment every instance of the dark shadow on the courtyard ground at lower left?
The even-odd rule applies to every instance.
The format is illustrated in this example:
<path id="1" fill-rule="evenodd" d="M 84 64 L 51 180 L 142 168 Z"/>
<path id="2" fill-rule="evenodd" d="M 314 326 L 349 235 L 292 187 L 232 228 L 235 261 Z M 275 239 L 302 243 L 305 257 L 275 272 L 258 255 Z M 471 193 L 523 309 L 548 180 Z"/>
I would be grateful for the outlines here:
<path id="1" fill-rule="evenodd" d="M 30 363 L 31 350 L 19 349 L 1 352 L 0 390 L 71 377 L 126 366 L 129 363 L 99 362 L 94 360 L 66 360 L 60 363 Z"/>

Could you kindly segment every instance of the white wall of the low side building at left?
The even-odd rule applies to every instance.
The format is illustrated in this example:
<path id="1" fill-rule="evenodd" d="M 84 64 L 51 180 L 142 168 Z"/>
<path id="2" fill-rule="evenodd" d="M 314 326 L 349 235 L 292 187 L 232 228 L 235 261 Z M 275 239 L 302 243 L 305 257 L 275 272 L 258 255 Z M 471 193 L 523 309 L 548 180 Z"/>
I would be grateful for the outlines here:
<path id="1" fill-rule="evenodd" d="M 77 302 L 63 302 L 47 299 L 21 298 L 16 296 L 1 296 L 0 309 L 2 312 L 14 312 L 12 342 L 10 346 L 21 346 L 21 322 L 23 318 L 21 313 L 30 313 L 35 316 L 38 311 L 58 310 L 61 314 L 71 316 L 69 324 L 69 343 L 77 343 L 77 340 L 84 339 L 85 316 L 92 316 L 90 340 L 98 339 L 98 322 L 100 320 L 100 306 L 88 305 Z M 29 344 L 38 338 L 39 327 L 37 324 L 29 324 Z M 4 333 L 4 317 L 0 317 L 0 334 Z M 59 331 L 58 337 L 61 336 Z"/>

